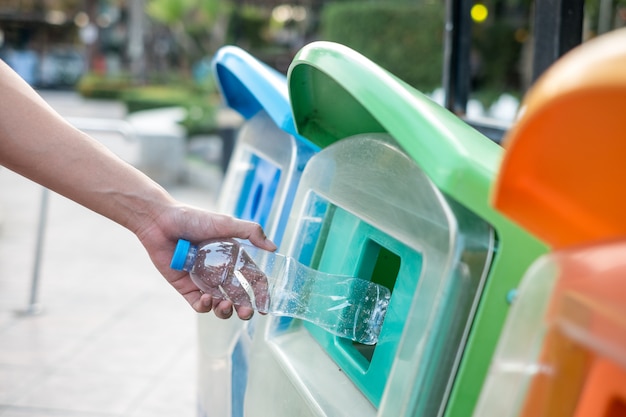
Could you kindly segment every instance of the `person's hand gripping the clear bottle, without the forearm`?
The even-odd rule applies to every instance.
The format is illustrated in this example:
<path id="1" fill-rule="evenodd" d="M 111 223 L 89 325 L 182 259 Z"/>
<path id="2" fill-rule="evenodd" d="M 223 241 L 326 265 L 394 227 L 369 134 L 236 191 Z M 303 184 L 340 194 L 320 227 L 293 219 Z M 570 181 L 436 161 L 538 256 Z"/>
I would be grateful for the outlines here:
<path id="1" fill-rule="evenodd" d="M 248 239 L 261 249 L 276 250 L 276 245 L 267 239 L 257 223 L 181 205 L 168 206 L 159 211 L 149 224 L 143 225 L 135 233 L 148 251 L 152 263 L 194 310 L 199 313 L 213 310 L 222 319 L 233 314 L 232 301 L 214 297 L 215 293 L 203 293 L 193 283 L 189 273 L 170 268 L 178 239 L 200 242 L 210 238 L 240 238 Z M 249 303 L 234 308 L 242 320 L 250 319 L 254 313 Z"/>

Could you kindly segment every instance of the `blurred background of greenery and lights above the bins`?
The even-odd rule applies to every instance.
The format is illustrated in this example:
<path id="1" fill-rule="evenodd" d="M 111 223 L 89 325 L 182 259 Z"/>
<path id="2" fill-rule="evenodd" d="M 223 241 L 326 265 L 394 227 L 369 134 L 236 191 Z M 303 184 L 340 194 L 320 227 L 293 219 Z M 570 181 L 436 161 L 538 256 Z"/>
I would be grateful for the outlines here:
<path id="1" fill-rule="evenodd" d="M 215 128 L 210 62 L 238 45 L 286 73 L 314 40 L 345 44 L 425 93 L 442 84 L 443 0 L 0 0 L 0 57 L 40 88 L 123 100 L 129 112 L 187 108 L 190 132 Z M 521 97 L 533 0 L 474 0 L 472 97 Z M 474 16 L 474 9 L 482 13 Z M 626 25 L 626 0 L 586 0 L 585 39 Z M 19 59 L 18 59 L 19 58 Z M 25 63 L 37 72 L 23 70 Z M 20 64 L 20 65 L 18 65 Z"/>

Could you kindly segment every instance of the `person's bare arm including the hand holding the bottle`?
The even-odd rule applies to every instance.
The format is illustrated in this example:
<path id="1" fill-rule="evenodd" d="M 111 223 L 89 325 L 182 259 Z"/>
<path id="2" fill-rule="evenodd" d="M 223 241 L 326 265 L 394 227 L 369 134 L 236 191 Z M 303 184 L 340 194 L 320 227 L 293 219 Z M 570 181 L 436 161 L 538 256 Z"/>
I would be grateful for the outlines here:
<path id="1" fill-rule="evenodd" d="M 133 232 L 168 282 L 198 312 L 218 317 L 232 304 L 202 294 L 169 261 L 178 238 L 249 239 L 267 250 L 276 246 L 251 222 L 209 213 L 174 200 L 161 186 L 100 143 L 75 129 L 0 61 L 0 165 L 15 171 Z M 241 318 L 252 311 L 239 309 Z"/>

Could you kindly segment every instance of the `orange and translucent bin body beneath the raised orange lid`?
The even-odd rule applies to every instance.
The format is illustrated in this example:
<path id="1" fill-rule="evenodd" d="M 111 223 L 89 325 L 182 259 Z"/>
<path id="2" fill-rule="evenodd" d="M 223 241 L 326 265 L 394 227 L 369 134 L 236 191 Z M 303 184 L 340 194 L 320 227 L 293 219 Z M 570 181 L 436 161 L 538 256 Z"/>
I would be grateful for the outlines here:
<path id="1" fill-rule="evenodd" d="M 535 262 L 520 285 L 474 416 L 626 411 L 626 241 Z"/>

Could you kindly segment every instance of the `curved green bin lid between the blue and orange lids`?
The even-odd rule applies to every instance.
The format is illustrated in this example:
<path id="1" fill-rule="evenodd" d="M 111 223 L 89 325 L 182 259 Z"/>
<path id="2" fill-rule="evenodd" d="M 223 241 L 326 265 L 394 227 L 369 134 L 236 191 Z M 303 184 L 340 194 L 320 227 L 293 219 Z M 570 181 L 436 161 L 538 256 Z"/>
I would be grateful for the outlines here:
<path id="1" fill-rule="evenodd" d="M 298 132 L 320 147 L 388 132 L 444 192 L 486 218 L 502 148 L 358 52 L 332 42 L 302 48 L 288 73 Z"/>

